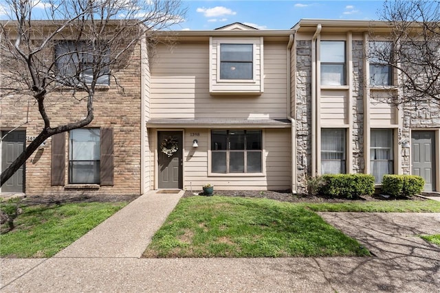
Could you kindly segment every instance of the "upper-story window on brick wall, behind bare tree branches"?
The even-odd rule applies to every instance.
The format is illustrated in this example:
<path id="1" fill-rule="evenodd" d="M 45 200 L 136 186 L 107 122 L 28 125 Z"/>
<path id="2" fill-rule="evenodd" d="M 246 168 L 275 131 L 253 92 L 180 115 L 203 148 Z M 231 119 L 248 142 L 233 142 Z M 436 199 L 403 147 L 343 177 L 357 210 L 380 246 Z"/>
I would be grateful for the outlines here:
<path id="1" fill-rule="evenodd" d="M 91 84 L 96 73 L 97 85 L 109 85 L 108 47 L 91 50 L 85 41 L 65 40 L 55 46 L 60 82 L 69 85 Z"/>

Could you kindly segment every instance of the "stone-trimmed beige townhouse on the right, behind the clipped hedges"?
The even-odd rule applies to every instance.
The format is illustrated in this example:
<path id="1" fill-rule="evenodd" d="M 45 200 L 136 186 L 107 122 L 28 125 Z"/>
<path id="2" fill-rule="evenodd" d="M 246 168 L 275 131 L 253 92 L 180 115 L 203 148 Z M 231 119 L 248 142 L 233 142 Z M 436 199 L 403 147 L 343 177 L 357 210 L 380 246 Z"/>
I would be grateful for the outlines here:
<path id="1" fill-rule="evenodd" d="M 292 30 L 298 190 L 312 174 L 415 174 L 440 191 L 440 107 L 393 106 L 399 72 L 369 54 L 391 27 L 377 21 L 301 20 Z"/>

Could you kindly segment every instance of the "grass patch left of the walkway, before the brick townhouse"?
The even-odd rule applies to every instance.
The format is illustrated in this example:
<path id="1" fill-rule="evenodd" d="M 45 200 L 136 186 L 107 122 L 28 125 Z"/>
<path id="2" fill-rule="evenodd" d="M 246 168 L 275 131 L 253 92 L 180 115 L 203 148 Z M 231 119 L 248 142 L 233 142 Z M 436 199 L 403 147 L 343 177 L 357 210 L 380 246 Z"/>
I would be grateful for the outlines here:
<path id="1" fill-rule="evenodd" d="M 14 221 L 14 230 L 0 235 L 0 256 L 52 257 L 126 204 L 87 202 L 23 207 L 23 213 Z"/>

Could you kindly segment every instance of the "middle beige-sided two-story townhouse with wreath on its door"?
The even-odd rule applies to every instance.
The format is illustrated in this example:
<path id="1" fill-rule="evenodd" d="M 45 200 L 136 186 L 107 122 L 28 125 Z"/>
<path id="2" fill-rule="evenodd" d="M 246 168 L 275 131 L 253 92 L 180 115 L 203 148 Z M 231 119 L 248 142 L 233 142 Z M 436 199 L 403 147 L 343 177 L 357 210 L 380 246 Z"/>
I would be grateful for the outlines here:
<path id="1" fill-rule="evenodd" d="M 151 189 L 293 189 L 290 30 L 164 34 L 151 56 Z M 290 40 L 290 42 L 289 42 Z"/>

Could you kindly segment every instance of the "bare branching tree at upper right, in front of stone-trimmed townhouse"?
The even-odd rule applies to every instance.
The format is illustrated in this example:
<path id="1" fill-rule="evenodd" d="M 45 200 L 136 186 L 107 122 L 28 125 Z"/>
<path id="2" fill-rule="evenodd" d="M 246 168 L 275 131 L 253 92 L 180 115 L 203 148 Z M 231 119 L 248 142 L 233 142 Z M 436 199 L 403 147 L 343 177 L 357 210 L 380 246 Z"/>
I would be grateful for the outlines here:
<path id="1" fill-rule="evenodd" d="M 440 1 L 385 1 L 379 16 L 390 32 L 379 36 L 372 28 L 370 40 L 387 42 L 371 42 L 370 62 L 397 73 L 396 85 L 403 93 L 390 91 L 386 102 L 440 104 Z"/>

